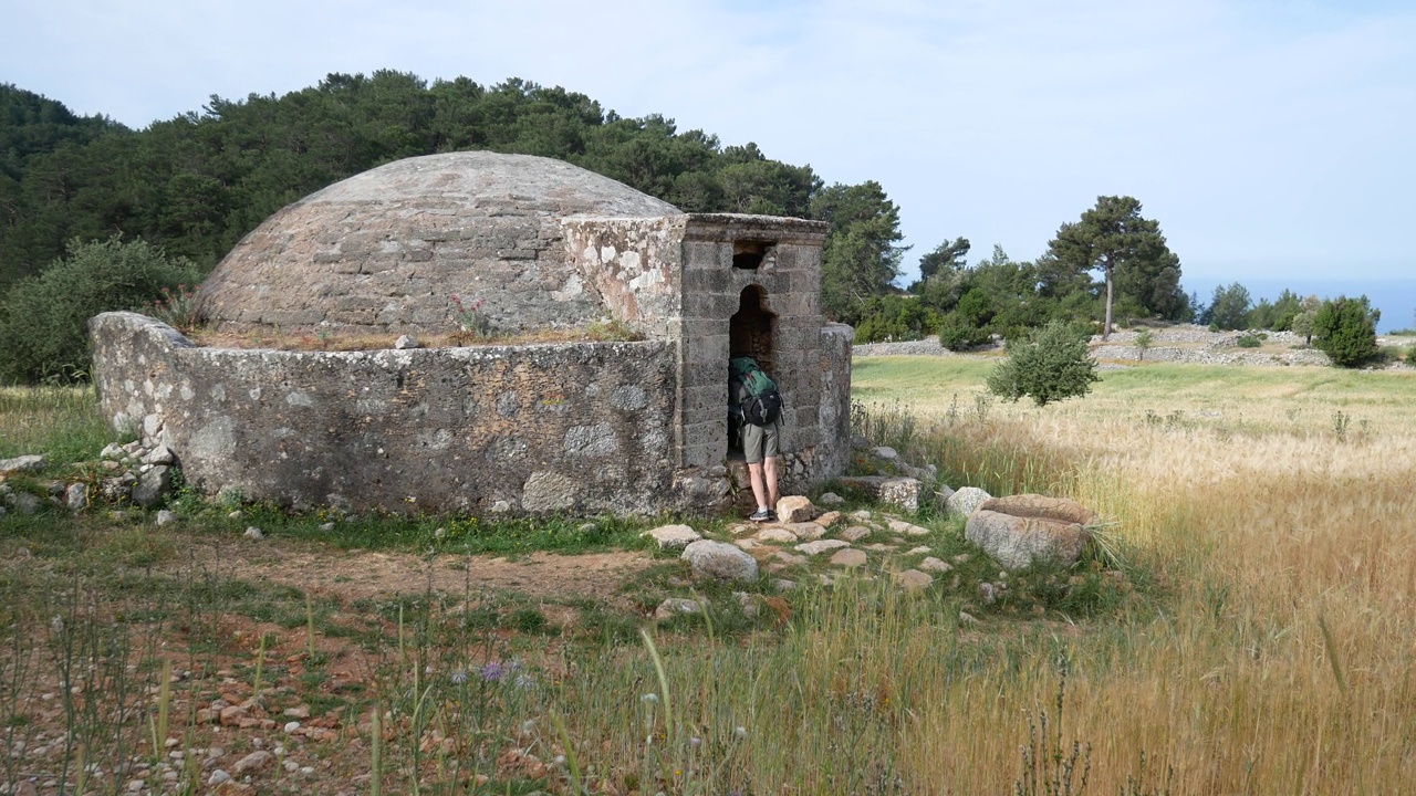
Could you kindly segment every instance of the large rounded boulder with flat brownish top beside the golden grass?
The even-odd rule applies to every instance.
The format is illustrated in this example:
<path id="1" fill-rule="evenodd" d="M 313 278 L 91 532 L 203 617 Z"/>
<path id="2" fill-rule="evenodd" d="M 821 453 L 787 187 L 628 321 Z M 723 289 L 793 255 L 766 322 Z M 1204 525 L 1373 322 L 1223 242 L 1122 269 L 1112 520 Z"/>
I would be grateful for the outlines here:
<path id="1" fill-rule="evenodd" d="M 1096 514 L 1073 500 L 1015 494 L 984 500 L 969 516 L 964 535 L 1004 569 L 1044 562 L 1070 567 L 1090 538 L 1086 527 L 1095 523 Z"/>

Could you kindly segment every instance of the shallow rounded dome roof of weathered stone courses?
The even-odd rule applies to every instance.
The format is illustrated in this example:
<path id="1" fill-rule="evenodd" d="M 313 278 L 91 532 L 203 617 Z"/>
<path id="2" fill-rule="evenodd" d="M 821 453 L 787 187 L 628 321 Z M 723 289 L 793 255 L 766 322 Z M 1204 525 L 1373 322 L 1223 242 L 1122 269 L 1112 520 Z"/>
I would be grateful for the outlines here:
<path id="1" fill-rule="evenodd" d="M 218 329 L 446 330 L 453 296 L 494 327 L 603 314 L 565 251 L 566 217 L 681 212 L 623 183 L 528 154 L 398 160 L 276 212 L 217 265 L 198 313 Z"/>

